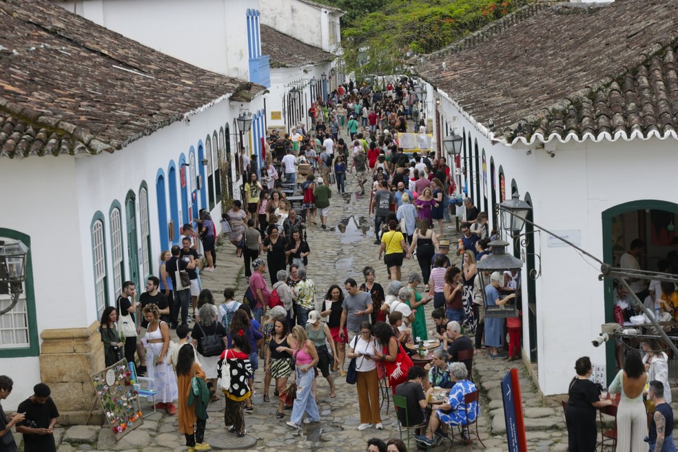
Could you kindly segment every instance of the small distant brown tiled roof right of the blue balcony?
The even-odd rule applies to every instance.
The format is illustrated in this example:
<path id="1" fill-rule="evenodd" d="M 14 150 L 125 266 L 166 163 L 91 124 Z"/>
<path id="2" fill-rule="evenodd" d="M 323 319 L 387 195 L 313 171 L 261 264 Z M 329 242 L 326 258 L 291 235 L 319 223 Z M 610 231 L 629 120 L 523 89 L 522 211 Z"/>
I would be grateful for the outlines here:
<path id="1" fill-rule="evenodd" d="M 270 56 L 271 68 L 291 68 L 335 59 L 333 54 L 302 43 L 268 25 L 260 25 L 260 28 L 261 53 Z"/>

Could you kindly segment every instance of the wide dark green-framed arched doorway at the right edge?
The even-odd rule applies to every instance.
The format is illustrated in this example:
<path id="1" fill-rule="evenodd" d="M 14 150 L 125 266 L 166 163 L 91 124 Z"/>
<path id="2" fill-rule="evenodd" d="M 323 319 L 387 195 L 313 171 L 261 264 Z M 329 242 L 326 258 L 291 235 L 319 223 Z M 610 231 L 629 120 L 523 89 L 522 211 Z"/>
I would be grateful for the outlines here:
<path id="1" fill-rule="evenodd" d="M 639 238 L 645 243 L 645 252 L 638 258 L 642 270 L 657 271 L 659 260 L 673 251 L 671 245 L 677 236 L 678 204 L 655 199 L 630 201 L 610 207 L 602 212 L 603 261 L 614 267 L 628 251 L 631 240 Z M 669 269 L 669 271 L 671 271 Z M 614 321 L 613 280 L 604 280 L 605 321 Z M 642 300 L 641 300 L 642 301 Z M 607 342 L 606 366 L 608 381 L 615 377 L 615 345 Z"/>

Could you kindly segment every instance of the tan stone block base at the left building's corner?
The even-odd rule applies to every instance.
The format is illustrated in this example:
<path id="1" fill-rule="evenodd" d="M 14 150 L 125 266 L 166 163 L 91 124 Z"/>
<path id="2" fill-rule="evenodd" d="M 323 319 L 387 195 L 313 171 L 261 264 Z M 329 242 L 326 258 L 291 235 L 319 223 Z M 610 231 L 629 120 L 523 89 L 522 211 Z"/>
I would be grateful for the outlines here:
<path id="1" fill-rule="evenodd" d="M 40 335 L 40 379 L 52 389 L 61 425 L 84 424 L 96 400 L 90 375 L 105 367 L 98 329 L 94 322 L 86 328 L 45 329 Z M 89 424 L 103 421 L 97 402 Z"/>

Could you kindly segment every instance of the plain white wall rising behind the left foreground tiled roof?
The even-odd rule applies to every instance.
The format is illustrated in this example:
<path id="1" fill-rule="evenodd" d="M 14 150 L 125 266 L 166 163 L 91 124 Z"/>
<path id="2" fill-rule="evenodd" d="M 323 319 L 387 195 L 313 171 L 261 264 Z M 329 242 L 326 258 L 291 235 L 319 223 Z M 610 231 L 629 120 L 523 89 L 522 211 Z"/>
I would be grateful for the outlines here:
<path id="1" fill-rule="evenodd" d="M 58 2 L 73 11 L 72 1 Z M 75 11 L 175 58 L 249 80 L 247 8 L 257 0 L 78 0 Z"/>

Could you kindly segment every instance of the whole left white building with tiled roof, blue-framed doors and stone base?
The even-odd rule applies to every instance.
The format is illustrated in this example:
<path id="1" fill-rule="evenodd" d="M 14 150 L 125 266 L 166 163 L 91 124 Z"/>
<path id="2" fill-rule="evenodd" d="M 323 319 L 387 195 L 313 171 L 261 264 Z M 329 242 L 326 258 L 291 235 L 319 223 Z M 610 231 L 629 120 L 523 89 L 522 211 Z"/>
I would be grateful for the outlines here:
<path id="1" fill-rule="evenodd" d="M 19 305 L 0 316 L 8 404 L 42 380 L 60 422 L 83 422 L 89 376 L 103 368 L 103 309 L 123 281 L 158 274 L 199 209 L 218 225 L 242 173 L 233 121 L 263 110 L 265 88 L 49 3 L 8 0 L 3 12 L 0 240 L 30 247 Z"/>

